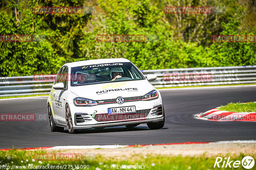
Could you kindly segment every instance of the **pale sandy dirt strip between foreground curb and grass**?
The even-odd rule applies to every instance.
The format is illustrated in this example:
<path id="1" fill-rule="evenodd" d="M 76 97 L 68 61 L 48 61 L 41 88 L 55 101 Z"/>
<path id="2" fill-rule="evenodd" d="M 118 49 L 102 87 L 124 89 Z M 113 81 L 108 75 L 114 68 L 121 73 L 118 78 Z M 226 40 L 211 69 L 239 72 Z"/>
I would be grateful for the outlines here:
<path id="1" fill-rule="evenodd" d="M 134 155 L 166 155 L 166 156 L 200 156 L 206 157 L 221 155 L 252 155 L 256 154 L 256 143 L 238 144 L 182 144 L 182 145 L 149 145 L 143 147 L 125 147 L 116 149 L 48 149 L 46 152 L 58 153 L 85 153 L 112 157 L 116 159 L 134 158 Z"/>

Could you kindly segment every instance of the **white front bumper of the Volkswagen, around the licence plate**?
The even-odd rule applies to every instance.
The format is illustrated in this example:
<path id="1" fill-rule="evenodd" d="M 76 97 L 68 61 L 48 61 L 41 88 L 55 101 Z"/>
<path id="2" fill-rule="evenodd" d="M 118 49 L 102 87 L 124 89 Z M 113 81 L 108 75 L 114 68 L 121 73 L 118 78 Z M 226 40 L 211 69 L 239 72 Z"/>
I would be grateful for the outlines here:
<path id="1" fill-rule="evenodd" d="M 70 103 L 70 105 L 72 105 L 72 103 Z M 108 108 L 125 106 L 135 106 L 136 111 L 140 112 L 140 115 L 138 112 L 133 114 L 108 115 Z M 158 107 L 162 107 L 162 102 L 159 98 L 152 101 L 101 104 L 92 107 L 76 107 L 73 104 L 72 107 L 70 107 L 70 111 L 74 129 L 90 129 L 158 122 L 164 119 L 163 112 L 156 114 Z M 97 113 L 93 118 L 92 114 L 95 110 L 97 110 Z M 144 113 L 144 110 L 146 110 L 147 113 Z M 141 112 L 143 112 L 143 114 L 141 114 Z"/>

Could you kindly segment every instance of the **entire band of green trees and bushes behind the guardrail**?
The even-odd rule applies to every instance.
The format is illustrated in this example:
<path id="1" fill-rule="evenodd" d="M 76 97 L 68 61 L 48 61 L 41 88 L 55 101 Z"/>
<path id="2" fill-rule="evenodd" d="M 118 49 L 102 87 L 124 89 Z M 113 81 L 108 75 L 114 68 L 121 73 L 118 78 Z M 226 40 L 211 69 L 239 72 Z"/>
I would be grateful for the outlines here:
<path id="1" fill-rule="evenodd" d="M 1 35 L 36 34 L 46 39 L 0 42 L 0 76 L 56 74 L 66 62 L 120 57 L 131 60 L 143 70 L 255 65 L 255 43 L 211 42 L 213 34 L 255 35 L 255 30 L 248 32 L 240 24 L 243 15 L 248 13 L 245 8 L 253 3 L 186 0 L 180 6 L 219 5 L 226 6 L 226 12 L 164 14 L 164 6 L 179 6 L 177 3 L 173 0 L 20 0 L 18 4 L 17 0 L 4 0 L 0 4 Z M 18 21 L 15 6 L 20 11 Z M 93 6 L 96 10 L 92 14 L 35 14 L 32 9 L 36 6 Z M 97 35 L 107 34 L 158 39 L 145 42 L 96 40 Z"/>

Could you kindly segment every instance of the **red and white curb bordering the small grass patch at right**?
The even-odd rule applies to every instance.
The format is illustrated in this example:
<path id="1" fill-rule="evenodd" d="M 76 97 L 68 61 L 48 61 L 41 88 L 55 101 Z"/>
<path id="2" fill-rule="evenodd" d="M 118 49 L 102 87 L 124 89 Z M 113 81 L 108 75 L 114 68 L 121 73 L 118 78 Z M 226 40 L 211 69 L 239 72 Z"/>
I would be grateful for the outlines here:
<path id="1" fill-rule="evenodd" d="M 204 113 L 196 114 L 195 118 L 211 121 L 250 121 L 256 122 L 256 113 L 253 112 L 229 112 L 221 111 L 218 108 L 208 110 Z"/>

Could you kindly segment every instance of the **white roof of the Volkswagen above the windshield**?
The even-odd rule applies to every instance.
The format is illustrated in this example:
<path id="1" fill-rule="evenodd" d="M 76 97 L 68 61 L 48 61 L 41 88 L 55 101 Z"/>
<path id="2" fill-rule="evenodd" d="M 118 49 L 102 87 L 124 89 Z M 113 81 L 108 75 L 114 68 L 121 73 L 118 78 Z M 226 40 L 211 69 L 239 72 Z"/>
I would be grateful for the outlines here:
<path id="1" fill-rule="evenodd" d="M 63 66 L 78 67 L 78 66 L 86 66 L 86 65 L 92 65 L 92 64 L 104 64 L 104 63 L 115 63 L 115 62 L 131 62 L 131 61 L 125 58 L 97 59 L 97 60 L 84 60 L 84 61 L 66 63 Z"/>

